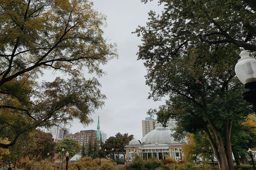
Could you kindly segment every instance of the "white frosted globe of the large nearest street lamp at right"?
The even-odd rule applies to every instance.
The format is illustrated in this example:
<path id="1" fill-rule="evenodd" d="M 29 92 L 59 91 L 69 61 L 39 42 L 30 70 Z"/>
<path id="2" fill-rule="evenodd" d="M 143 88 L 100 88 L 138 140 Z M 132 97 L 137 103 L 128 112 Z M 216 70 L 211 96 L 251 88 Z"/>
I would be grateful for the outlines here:
<path id="1" fill-rule="evenodd" d="M 256 81 L 256 59 L 249 54 L 246 50 L 241 51 L 241 59 L 235 66 L 236 76 L 243 84 Z"/>

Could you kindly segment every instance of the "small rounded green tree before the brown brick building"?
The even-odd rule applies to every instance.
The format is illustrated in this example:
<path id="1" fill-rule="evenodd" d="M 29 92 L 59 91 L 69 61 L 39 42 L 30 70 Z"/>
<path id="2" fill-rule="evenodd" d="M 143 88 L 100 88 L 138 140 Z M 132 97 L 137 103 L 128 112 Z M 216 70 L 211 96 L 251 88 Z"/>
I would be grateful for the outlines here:
<path id="1" fill-rule="evenodd" d="M 62 148 L 65 149 L 64 154 L 66 152 L 69 153 L 69 156 L 72 157 L 80 150 L 80 145 L 78 144 L 78 140 L 70 139 L 70 138 L 63 138 L 62 140 L 58 141 L 56 144 L 56 153 L 61 153 Z"/>

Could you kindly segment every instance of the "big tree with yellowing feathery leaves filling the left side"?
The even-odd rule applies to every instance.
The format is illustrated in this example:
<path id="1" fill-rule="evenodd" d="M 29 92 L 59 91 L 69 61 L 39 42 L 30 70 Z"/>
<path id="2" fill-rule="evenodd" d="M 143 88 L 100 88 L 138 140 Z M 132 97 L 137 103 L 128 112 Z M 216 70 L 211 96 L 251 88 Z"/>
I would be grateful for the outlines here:
<path id="1" fill-rule="evenodd" d="M 89 115 L 103 105 L 96 78 L 82 70 L 104 74 L 100 68 L 117 56 L 115 44 L 103 39 L 106 17 L 87 0 L 0 0 L 0 135 L 17 138 L 39 126 L 49 127 Z M 44 70 L 70 78 L 38 84 Z"/>

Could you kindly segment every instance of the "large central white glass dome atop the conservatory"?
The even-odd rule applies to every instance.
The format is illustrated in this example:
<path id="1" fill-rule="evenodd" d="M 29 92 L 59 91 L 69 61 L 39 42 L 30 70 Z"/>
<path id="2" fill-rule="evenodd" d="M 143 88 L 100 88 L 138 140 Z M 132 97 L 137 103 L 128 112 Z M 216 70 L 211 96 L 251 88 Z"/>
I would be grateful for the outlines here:
<path id="1" fill-rule="evenodd" d="M 170 144 L 176 143 L 174 141 L 174 131 L 171 131 L 169 128 L 162 127 L 162 124 L 156 123 L 155 129 L 145 135 L 141 141 L 142 145 L 161 145 L 161 144 Z"/>

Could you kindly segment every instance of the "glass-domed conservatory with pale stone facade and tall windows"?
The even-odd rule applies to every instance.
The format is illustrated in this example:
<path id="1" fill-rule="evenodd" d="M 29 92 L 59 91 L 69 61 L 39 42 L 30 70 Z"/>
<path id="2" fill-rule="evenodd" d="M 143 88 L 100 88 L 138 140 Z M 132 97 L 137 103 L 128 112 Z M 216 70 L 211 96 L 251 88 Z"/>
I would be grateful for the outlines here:
<path id="1" fill-rule="evenodd" d="M 162 127 L 162 124 L 156 123 L 155 129 L 146 134 L 141 143 L 133 139 L 126 148 L 126 161 L 133 161 L 135 154 L 140 155 L 143 159 L 156 158 L 165 159 L 165 154 L 175 160 L 182 160 L 181 146 L 188 143 L 186 139 L 176 141 L 173 137 L 174 131 L 170 128 Z"/>

